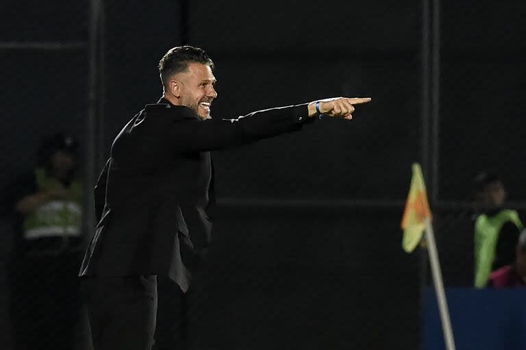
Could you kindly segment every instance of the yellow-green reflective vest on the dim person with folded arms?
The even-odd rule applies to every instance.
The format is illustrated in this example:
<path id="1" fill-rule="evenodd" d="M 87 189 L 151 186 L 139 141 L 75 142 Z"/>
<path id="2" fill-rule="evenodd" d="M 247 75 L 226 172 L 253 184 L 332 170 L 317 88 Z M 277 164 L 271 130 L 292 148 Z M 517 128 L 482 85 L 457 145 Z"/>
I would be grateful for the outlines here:
<path id="1" fill-rule="evenodd" d="M 44 168 L 35 170 L 38 192 L 47 192 L 63 186 L 58 179 L 49 177 Z M 23 222 L 24 238 L 80 236 L 82 229 L 82 184 L 71 182 L 67 188 L 70 200 L 54 199 L 41 205 L 26 216 Z"/>

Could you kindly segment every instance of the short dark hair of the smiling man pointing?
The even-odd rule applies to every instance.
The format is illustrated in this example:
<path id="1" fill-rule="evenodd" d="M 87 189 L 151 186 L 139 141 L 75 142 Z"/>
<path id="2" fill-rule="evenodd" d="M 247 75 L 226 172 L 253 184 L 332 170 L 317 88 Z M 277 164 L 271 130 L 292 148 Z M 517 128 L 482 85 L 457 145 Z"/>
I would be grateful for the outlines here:
<path id="1" fill-rule="evenodd" d="M 174 74 L 186 71 L 189 63 L 208 64 L 214 69 L 214 62 L 203 49 L 193 46 L 177 46 L 168 50 L 159 61 L 159 73 L 162 84 L 166 86 L 168 79 Z"/>

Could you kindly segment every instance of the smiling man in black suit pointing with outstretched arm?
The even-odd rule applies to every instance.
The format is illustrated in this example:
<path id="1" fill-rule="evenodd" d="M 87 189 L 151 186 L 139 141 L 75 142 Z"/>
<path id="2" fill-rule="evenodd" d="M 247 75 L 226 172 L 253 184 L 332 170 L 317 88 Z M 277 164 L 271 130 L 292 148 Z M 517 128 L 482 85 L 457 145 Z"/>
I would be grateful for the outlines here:
<path id="1" fill-rule="evenodd" d="M 352 118 L 371 99 L 323 99 L 237 119 L 212 119 L 214 64 L 196 47 L 174 47 L 159 64 L 163 97 L 115 138 L 95 186 L 99 221 L 79 273 L 95 350 L 151 349 L 157 276 L 186 292 L 189 268 L 210 244 L 210 151 L 299 131 L 314 116 Z"/>

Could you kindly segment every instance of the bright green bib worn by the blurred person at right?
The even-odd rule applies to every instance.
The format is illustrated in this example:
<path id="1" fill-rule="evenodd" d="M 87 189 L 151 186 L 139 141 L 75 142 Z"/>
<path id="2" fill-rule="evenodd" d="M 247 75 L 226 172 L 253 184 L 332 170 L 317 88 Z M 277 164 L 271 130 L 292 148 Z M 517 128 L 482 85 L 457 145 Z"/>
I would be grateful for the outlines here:
<path id="1" fill-rule="evenodd" d="M 520 230 L 523 223 L 515 210 L 501 210 L 495 216 L 481 214 L 475 221 L 475 288 L 488 283 L 495 260 L 499 232 L 505 223 L 512 222 Z"/>

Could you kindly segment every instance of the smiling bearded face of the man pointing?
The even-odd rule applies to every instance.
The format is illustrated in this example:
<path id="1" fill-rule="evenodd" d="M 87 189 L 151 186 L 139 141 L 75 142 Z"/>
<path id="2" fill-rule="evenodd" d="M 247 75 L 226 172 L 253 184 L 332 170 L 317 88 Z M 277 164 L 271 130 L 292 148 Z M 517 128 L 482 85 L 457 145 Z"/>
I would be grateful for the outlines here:
<path id="1" fill-rule="evenodd" d="M 168 82 L 168 92 L 175 105 L 186 105 L 203 120 L 210 118 L 210 105 L 217 97 L 216 77 L 208 64 L 191 62 L 186 71 L 177 73 Z M 165 91 L 166 95 L 166 91 Z"/>

